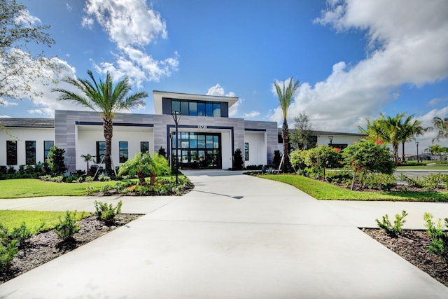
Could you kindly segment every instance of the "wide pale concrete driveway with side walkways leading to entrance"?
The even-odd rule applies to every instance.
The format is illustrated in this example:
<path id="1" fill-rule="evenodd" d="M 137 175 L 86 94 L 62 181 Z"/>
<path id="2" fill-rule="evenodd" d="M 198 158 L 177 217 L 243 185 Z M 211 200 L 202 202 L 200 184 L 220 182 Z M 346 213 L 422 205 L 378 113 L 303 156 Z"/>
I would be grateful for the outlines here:
<path id="1" fill-rule="evenodd" d="M 102 197 L 148 214 L 0 285 L 0 298 L 448 298 L 356 228 L 402 209 L 423 228 L 422 213 L 446 217 L 447 204 L 322 202 L 235 172 L 186 174 L 196 187 L 183 197 Z M 0 200 L 0 209 L 92 211 L 95 199 Z"/>

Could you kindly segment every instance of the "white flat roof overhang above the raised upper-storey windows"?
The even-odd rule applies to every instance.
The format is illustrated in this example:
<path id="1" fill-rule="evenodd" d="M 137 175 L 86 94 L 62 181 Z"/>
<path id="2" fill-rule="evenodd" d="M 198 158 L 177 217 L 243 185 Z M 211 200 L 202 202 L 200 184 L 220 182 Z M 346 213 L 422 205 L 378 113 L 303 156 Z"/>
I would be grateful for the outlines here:
<path id="1" fill-rule="evenodd" d="M 161 90 L 153 90 L 153 100 L 155 114 L 162 114 L 162 99 L 190 99 L 193 101 L 204 101 L 204 102 L 227 102 L 230 106 L 238 102 L 238 97 L 224 97 L 219 95 L 195 95 L 190 93 L 182 92 L 167 92 Z"/>

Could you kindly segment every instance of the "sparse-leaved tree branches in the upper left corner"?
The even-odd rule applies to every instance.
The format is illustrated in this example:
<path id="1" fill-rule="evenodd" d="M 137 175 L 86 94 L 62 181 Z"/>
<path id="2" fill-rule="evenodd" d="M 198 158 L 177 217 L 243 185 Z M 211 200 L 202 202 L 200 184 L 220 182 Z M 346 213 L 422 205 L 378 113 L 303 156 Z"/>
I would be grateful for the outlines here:
<path id="1" fill-rule="evenodd" d="M 33 55 L 29 46 L 50 47 L 55 41 L 45 32 L 50 26 L 29 15 L 27 7 L 15 0 L 0 1 L 0 104 L 3 98 L 34 98 L 41 93 L 31 84 L 51 79 L 45 69 L 57 69 L 55 60 L 42 53 Z"/>

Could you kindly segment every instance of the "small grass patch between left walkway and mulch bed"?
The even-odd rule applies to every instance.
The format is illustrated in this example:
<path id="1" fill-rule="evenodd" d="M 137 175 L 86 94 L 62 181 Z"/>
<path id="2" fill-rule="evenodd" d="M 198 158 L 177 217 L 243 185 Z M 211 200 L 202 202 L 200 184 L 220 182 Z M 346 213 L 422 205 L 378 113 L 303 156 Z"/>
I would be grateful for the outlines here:
<path id="1" fill-rule="evenodd" d="M 63 218 L 66 212 L 64 211 L 15 211 L 15 210 L 0 210 L 0 223 L 8 230 L 18 228 L 25 222 L 31 232 L 36 232 L 43 224 L 43 230 L 50 230 L 55 228 L 59 223 L 59 217 Z M 90 213 L 76 213 L 76 219 L 80 220 Z"/>

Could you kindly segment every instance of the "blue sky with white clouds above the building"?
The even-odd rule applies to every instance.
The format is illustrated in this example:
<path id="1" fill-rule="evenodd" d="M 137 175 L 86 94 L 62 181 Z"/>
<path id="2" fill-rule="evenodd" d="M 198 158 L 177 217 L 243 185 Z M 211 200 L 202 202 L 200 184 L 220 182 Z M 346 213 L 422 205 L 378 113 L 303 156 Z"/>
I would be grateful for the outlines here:
<path id="1" fill-rule="evenodd" d="M 39 0 L 29 14 L 50 25 L 62 74 L 129 76 L 152 91 L 239 97 L 232 116 L 276 120 L 273 82 L 300 81 L 288 123 L 306 112 L 315 130 L 357 132 L 379 113 L 415 113 L 430 125 L 448 116 L 448 6 L 443 0 Z M 37 50 L 32 48 L 31 50 Z M 62 88 L 67 88 L 63 84 Z M 52 117 L 54 85 L 43 97 L 3 99 L 0 116 Z M 435 133 L 419 137 L 430 145 Z M 440 144 L 446 146 L 447 141 Z M 414 150 L 411 146 L 409 151 Z"/>

